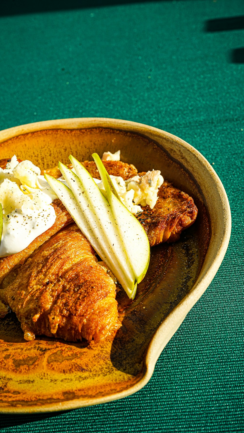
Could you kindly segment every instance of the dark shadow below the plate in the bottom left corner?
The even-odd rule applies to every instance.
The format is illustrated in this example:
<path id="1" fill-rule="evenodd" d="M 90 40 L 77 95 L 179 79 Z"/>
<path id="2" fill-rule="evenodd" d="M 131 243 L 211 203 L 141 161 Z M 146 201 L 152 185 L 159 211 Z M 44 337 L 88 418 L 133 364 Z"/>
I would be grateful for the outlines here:
<path id="1" fill-rule="evenodd" d="M 35 423 L 36 421 L 46 420 L 47 418 L 58 417 L 59 415 L 68 413 L 69 410 L 62 412 L 49 412 L 46 414 L 23 414 L 23 415 L 5 415 L 0 418 L 0 431 L 8 427 L 23 426 L 23 424 Z"/>

